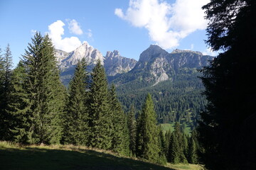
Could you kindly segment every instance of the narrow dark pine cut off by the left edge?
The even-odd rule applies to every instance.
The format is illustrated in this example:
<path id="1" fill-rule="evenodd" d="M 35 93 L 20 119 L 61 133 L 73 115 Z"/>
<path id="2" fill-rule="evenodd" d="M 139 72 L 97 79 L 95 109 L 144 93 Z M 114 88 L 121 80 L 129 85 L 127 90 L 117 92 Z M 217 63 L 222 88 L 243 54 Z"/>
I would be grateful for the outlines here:
<path id="1" fill-rule="evenodd" d="M 12 55 L 10 45 L 6 46 L 4 57 L 1 58 L 0 66 L 0 140 L 10 140 L 9 120 L 10 115 L 6 109 L 9 104 L 11 86 Z"/>

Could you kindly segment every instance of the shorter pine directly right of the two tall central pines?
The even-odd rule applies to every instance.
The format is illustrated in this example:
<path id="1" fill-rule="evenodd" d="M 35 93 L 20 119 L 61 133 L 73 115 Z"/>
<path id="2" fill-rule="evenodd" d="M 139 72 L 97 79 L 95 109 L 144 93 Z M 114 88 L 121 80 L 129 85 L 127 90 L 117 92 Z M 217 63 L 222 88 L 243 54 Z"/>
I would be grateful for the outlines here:
<path id="1" fill-rule="evenodd" d="M 114 152 L 129 155 L 129 135 L 127 117 L 122 110 L 121 103 L 117 99 L 114 84 L 110 88 L 110 114 L 112 115 L 112 147 Z"/>

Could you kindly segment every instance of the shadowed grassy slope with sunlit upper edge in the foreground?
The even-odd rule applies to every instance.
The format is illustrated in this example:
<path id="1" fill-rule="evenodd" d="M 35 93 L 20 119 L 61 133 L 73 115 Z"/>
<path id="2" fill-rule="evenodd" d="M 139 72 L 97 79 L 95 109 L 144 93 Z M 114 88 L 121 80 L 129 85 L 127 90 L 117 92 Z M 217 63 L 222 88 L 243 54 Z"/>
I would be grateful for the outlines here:
<path id="1" fill-rule="evenodd" d="M 92 169 L 92 170 L 171 170 L 187 169 L 187 165 L 160 166 L 138 159 L 120 157 L 112 152 L 73 145 L 29 145 L 0 142 L 1 169 Z M 188 165 L 189 168 L 190 165 Z M 184 170 L 185 170 L 184 169 Z M 198 169 L 195 169 L 198 170 Z"/>

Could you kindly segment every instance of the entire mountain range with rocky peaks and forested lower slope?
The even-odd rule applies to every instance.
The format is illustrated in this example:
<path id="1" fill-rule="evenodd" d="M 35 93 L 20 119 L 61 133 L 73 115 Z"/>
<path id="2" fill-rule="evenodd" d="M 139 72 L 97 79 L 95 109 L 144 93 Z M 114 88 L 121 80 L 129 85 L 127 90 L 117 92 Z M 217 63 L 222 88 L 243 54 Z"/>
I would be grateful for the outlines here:
<path id="1" fill-rule="evenodd" d="M 65 85 L 73 77 L 78 60 L 85 57 L 88 72 L 97 60 L 105 67 L 110 83 L 117 86 L 117 95 L 125 111 L 134 105 L 137 110 L 147 93 L 155 101 L 160 123 L 180 121 L 195 123 L 206 99 L 201 96 L 204 87 L 198 69 L 209 64 L 213 57 L 191 50 L 169 53 L 158 45 L 150 45 L 139 56 L 139 61 L 122 57 L 117 50 L 105 56 L 84 42 L 73 52 L 55 50 L 60 76 Z"/>

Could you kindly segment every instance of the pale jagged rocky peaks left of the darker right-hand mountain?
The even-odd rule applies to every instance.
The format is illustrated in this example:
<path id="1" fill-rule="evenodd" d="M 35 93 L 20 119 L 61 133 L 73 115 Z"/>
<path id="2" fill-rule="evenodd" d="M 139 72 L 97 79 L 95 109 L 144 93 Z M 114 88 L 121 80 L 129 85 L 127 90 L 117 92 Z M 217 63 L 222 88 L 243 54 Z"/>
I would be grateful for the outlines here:
<path id="1" fill-rule="evenodd" d="M 82 60 L 82 58 L 85 58 L 87 62 L 88 72 L 95 67 L 97 60 L 100 60 L 105 67 L 107 76 L 115 76 L 116 74 L 129 72 L 137 63 L 134 59 L 122 57 L 117 50 L 107 52 L 104 57 L 99 50 L 89 45 L 88 42 L 83 42 L 82 45 L 72 52 L 55 50 L 55 57 L 58 61 L 61 71 L 60 75 L 65 85 L 67 85 L 71 77 L 73 77 L 75 66 L 78 64 L 78 60 Z"/>

